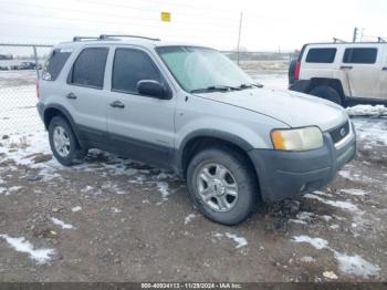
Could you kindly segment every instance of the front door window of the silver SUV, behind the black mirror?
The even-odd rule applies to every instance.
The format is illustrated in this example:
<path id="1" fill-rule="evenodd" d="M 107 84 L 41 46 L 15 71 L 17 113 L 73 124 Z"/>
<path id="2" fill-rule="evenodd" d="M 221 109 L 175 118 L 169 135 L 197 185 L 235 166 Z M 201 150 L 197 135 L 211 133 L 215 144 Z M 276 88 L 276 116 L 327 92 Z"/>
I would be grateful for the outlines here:
<path id="1" fill-rule="evenodd" d="M 161 82 L 160 73 L 150 58 L 143 51 L 117 49 L 113 63 L 112 90 L 137 94 L 142 80 Z"/>

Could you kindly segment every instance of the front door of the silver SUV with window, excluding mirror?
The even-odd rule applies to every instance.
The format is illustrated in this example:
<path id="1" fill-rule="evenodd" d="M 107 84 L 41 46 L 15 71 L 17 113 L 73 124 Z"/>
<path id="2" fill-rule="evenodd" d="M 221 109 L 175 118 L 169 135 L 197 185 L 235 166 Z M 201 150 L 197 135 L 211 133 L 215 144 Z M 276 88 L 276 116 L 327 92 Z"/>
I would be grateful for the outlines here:
<path id="1" fill-rule="evenodd" d="M 137 91 L 142 80 L 155 80 L 169 87 L 157 60 L 140 48 L 118 46 L 111 62 L 107 130 L 114 149 L 138 160 L 169 167 L 176 100 L 159 100 Z"/>

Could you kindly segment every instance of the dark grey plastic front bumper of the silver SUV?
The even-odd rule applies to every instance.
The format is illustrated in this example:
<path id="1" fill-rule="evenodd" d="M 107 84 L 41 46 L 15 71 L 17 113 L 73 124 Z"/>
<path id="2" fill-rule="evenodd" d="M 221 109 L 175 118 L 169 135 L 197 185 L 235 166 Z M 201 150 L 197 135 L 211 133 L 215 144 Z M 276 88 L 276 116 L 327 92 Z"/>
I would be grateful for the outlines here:
<path id="1" fill-rule="evenodd" d="M 336 144 L 337 146 L 337 144 Z M 307 152 L 280 152 L 252 149 L 249 152 L 260 183 L 264 201 L 316 190 L 327 185 L 336 173 L 356 154 L 356 136 L 337 148 L 328 133 L 324 133 L 324 146 Z"/>

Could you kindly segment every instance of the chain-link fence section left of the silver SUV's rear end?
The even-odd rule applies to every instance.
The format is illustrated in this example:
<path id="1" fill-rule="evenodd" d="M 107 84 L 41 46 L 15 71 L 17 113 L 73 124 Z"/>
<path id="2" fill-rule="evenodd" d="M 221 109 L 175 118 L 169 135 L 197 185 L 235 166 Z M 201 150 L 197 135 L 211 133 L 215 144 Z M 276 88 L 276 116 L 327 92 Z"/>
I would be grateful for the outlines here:
<path id="1" fill-rule="evenodd" d="M 36 81 L 51 45 L 0 43 L 0 135 L 42 130 Z"/>

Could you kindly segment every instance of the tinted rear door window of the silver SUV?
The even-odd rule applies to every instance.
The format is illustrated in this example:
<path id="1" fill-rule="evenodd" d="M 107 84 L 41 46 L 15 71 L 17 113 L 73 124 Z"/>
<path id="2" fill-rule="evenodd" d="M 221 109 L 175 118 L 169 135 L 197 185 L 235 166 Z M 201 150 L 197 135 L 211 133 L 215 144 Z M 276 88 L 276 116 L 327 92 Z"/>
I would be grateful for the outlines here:
<path id="1" fill-rule="evenodd" d="M 73 64 L 69 83 L 103 89 L 107 48 L 84 49 Z"/>

